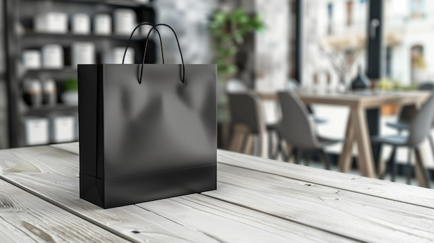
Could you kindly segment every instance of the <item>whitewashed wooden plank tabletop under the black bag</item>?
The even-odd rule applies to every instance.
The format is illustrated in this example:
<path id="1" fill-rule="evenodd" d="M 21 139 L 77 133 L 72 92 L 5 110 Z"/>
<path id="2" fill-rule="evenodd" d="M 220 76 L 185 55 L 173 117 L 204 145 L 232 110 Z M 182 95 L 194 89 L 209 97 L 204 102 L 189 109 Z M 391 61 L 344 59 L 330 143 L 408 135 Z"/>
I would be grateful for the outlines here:
<path id="1" fill-rule="evenodd" d="M 218 151 L 217 190 L 104 210 L 78 143 L 0 151 L 0 242 L 434 242 L 434 190 Z"/>

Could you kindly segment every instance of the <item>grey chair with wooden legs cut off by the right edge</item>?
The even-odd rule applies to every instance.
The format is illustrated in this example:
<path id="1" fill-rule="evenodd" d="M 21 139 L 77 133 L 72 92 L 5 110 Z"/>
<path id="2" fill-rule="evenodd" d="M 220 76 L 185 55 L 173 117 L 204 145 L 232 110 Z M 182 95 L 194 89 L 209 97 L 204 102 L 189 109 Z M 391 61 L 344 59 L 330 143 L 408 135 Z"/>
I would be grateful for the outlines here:
<path id="1" fill-rule="evenodd" d="M 420 154 L 419 145 L 428 137 L 431 131 L 434 116 L 434 94 L 422 105 L 421 109 L 416 112 L 413 119 L 408 124 L 408 134 L 395 134 L 388 136 L 374 136 L 373 143 L 381 143 L 383 145 L 391 145 L 392 153 L 390 156 L 391 180 L 395 181 L 397 174 L 397 163 L 395 160 L 397 147 L 408 147 L 409 150 L 415 151 L 416 163 L 422 170 L 424 184 L 422 186 L 430 187 L 430 176 L 426 170 Z M 382 147 L 382 146 L 381 146 Z M 408 162 L 410 163 L 410 162 Z M 378 163 L 380 166 L 381 163 Z M 379 178 L 383 179 L 385 172 L 379 170 Z"/>

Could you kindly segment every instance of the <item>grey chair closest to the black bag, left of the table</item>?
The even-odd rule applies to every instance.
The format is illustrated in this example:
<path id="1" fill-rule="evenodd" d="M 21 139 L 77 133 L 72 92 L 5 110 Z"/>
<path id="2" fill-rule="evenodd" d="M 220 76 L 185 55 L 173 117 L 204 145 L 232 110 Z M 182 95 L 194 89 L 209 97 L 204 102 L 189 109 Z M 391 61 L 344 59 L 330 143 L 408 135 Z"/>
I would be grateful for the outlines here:
<path id="1" fill-rule="evenodd" d="M 268 158 L 268 134 L 260 98 L 252 92 L 227 93 L 232 139 L 229 150 Z M 258 141 L 259 150 L 254 149 Z"/>

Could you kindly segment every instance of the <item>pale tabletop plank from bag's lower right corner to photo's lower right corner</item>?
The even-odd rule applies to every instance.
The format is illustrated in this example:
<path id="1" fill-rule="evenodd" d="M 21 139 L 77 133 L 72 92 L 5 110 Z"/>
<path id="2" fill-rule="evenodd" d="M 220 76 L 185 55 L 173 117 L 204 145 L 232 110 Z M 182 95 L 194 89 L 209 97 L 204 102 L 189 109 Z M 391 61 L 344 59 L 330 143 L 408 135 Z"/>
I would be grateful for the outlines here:
<path id="1" fill-rule="evenodd" d="M 265 172 L 219 165 L 205 195 L 363 242 L 433 242 L 434 211 Z"/>

